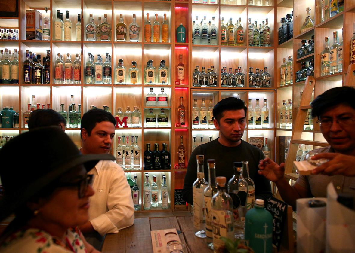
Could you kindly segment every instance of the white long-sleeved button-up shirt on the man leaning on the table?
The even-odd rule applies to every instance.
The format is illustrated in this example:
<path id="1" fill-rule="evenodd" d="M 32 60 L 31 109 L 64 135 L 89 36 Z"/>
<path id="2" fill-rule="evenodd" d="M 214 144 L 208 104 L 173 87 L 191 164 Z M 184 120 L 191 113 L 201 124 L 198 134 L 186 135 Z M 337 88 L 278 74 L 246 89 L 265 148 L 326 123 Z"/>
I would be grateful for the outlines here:
<path id="1" fill-rule="evenodd" d="M 95 194 L 90 199 L 89 208 L 89 220 L 94 229 L 105 235 L 133 225 L 131 189 L 120 165 L 101 160 L 88 174 L 94 175 Z"/>

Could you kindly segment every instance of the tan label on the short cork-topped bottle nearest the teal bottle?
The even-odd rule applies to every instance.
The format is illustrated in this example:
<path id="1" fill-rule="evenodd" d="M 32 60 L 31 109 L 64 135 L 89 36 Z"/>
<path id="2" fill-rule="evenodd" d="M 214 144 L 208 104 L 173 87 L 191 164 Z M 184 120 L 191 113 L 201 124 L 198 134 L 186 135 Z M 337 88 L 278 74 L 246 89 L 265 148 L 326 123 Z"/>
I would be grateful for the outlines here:
<path id="1" fill-rule="evenodd" d="M 233 214 L 227 210 L 212 209 L 211 216 L 214 251 L 223 252 L 225 243 L 220 240 L 220 237 L 234 239 Z"/>

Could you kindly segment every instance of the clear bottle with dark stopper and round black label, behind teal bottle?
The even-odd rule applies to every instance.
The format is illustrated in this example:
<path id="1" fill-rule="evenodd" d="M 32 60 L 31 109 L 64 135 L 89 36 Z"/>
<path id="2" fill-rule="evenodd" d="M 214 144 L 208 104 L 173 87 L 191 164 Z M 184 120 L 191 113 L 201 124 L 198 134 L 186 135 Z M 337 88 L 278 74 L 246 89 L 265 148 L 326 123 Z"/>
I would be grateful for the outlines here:
<path id="1" fill-rule="evenodd" d="M 234 175 L 228 181 L 228 194 L 233 201 L 234 229 L 238 238 L 244 237 L 245 214 L 247 210 L 248 183 L 242 176 L 243 163 L 234 162 Z M 238 199 L 238 201 L 236 201 Z"/>

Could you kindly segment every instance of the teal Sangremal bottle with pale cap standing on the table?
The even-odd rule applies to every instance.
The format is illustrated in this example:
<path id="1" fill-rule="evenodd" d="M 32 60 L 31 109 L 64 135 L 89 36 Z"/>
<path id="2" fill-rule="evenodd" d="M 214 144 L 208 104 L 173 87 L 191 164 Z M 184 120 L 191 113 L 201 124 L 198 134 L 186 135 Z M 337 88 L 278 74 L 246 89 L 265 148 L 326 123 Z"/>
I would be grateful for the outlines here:
<path id="1" fill-rule="evenodd" d="M 256 199 L 255 208 L 245 215 L 245 242 L 255 253 L 272 252 L 273 218 L 264 209 L 264 200 Z"/>

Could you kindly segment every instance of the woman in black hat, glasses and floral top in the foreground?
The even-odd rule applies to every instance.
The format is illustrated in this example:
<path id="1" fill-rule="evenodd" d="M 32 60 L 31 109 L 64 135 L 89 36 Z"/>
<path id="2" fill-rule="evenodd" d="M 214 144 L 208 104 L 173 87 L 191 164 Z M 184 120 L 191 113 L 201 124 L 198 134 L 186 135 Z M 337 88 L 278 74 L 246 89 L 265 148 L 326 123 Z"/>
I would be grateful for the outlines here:
<path id="1" fill-rule="evenodd" d="M 15 167 L 14 153 L 23 156 Z M 82 155 L 56 127 L 9 141 L 0 150 L 5 192 L 0 220 L 12 213 L 15 219 L 0 237 L 0 252 L 95 252 L 75 227 L 88 221 L 89 197 L 94 194 L 92 175 L 86 172 L 99 160 L 113 159 L 108 154 Z"/>

